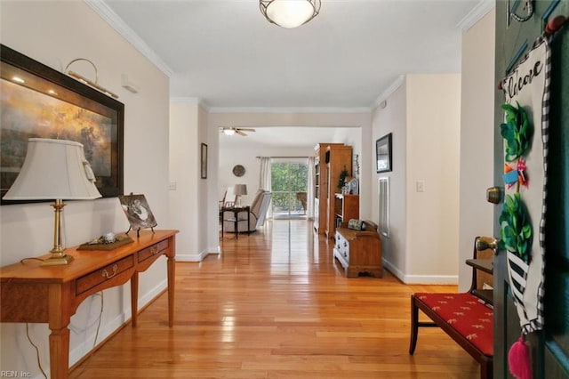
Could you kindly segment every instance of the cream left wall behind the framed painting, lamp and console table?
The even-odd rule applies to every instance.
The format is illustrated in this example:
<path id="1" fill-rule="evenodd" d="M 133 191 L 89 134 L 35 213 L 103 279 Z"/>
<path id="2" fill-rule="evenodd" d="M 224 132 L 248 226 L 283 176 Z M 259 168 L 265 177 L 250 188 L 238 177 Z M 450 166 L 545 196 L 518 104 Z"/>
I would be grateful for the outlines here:
<path id="1" fill-rule="evenodd" d="M 83 2 L 2 2 L 0 6 L 2 44 L 57 70 L 80 57 L 95 63 L 99 83 L 117 93 L 125 105 L 124 192 L 145 194 L 158 227 L 175 227 L 169 218 L 167 192 L 168 77 Z M 129 93 L 121 87 L 122 73 L 140 87 L 139 93 Z M 67 246 L 97 238 L 107 231 L 128 229 L 116 198 L 70 202 L 64 214 Z M 52 208 L 47 203 L 0 207 L 0 263 L 18 262 L 51 249 L 52 217 Z M 161 258 L 140 275 L 140 306 L 165 286 L 165 261 Z M 131 316 L 128 285 L 106 290 L 104 298 L 98 343 Z M 92 349 L 99 307 L 100 297 L 92 296 L 71 319 L 71 364 Z M 25 325 L 2 323 L 0 328 L 2 369 L 22 370 L 40 377 L 36 351 L 28 343 Z M 44 368 L 49 367 L 48 335 L 47 325 L 30 325 L 30 336 L 39 345 Z"/>

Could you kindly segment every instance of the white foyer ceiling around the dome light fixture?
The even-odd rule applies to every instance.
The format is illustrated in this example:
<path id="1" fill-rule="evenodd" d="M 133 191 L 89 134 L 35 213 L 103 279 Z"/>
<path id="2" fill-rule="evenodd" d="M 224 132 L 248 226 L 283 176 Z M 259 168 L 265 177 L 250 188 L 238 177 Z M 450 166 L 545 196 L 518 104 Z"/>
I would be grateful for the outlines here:
<path id="1" fill-rule="evenodd" d="M 322 0 L 287 29 L 258 0 L 85 1 L 170 77 L 172 98 L 212 111 L 370 109 L 402 75 L 460 72 L 461 33 L 493 3 Z"/>

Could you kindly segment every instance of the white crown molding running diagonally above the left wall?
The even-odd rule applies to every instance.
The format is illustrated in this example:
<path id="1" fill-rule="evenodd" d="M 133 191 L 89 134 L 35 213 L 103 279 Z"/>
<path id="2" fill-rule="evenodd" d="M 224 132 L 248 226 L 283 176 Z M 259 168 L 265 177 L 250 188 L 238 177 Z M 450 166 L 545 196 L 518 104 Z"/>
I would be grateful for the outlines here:
<path id="1" fill-rule="evenodd" d="M 160 69 L 167 77 L 172 77 L 173 71 L 162 60 L 156 52 L 154 52 L 148 44 L 146 44 L 140 36 L 138 36 L 132 28 L 129 28 L 124 20 L 108 7 L 104 0 L 84 0 L 84 3 L 89 5 L 93 11 L 100 15 L 100 18 L 107 21 L 111 28 L 114 28 L 118 34 L 124 37 L 131 43 L 142 55 L 150 60 L 154 65 Z"/>

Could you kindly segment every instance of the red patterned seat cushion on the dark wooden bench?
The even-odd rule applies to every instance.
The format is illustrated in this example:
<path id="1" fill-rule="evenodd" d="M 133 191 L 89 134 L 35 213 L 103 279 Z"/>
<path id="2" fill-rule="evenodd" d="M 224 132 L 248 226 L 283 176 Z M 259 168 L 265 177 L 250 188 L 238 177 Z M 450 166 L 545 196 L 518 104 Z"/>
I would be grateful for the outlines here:
<path id="1" fill-rule="evenodd" d="M 415 294 L 485 355 L 493 356 L 493 310 L 473 294 Z"/>

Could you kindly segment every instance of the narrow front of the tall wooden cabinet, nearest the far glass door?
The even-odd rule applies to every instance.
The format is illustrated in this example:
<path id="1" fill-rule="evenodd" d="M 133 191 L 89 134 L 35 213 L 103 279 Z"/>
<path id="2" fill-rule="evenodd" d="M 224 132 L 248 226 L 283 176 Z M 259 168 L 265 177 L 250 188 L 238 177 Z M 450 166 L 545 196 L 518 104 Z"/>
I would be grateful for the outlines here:
<path id="1" fill-rule="evenodd" d="M 318 143 L 314 147 L 314 230 L 322 234 L 326 230 L 328 217 L 326 149 L 329 146 L 343 146 L 343 143 Z"/>

